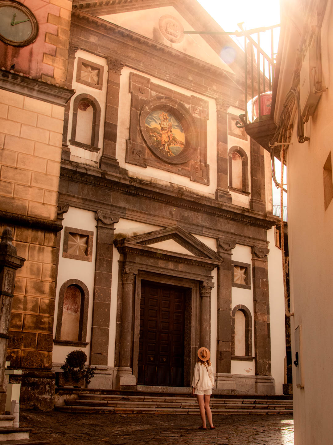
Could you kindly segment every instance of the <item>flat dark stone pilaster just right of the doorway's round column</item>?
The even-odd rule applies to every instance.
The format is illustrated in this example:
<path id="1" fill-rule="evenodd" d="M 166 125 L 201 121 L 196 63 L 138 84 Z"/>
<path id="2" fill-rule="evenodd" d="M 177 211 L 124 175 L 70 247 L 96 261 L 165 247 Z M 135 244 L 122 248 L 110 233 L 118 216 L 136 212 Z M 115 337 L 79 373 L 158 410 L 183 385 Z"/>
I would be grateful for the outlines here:
<path id="1" fill-rule="evenodd" d="M 236 246 L 236 242 L 219 238 L 217 245 L 218 254 L 223 258 L 223 263 L 218 268 L 216 372 L 230 374 L 232 287 L 231 250 Z M 218 389 L 220 388 L 225 389 L 218 386 Z"/>

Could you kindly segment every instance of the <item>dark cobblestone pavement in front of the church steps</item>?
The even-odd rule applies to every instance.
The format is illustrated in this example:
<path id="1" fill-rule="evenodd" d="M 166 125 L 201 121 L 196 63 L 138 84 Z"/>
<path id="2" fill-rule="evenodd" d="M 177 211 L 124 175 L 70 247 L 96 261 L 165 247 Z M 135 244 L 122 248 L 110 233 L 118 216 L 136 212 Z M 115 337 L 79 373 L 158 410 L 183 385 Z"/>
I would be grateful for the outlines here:
<path id="1" fill-rule="evenodd" d="M 199 431 L 199 415 L 20 411 L 30 437 L 51 445 L 293 445 L 290 415 L 216 415 L 213 421 L 215 430 Z"/>

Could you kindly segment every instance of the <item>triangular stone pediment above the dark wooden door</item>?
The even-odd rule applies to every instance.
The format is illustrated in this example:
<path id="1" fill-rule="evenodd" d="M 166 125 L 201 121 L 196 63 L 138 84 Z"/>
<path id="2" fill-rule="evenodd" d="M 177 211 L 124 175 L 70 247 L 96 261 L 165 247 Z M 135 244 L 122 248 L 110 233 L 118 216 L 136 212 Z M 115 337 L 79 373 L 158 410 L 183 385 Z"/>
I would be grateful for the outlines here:
<path id="1" fill-rule="evenodd" d="M 169 240 L 172 243 L 164 243 Z M 173 249 L 174 243 L 177 243 L 182 249 Z M 155 256 L 158 259 L 173 262 L 195 263 L 211 268 L 220 265 L 223 261 L 210 247 L 207 247 L 206 244 L 178 226 L 129 238 L 115 239 L 114 244 L 121 253 L 131 251 L 139 255 Z"/>

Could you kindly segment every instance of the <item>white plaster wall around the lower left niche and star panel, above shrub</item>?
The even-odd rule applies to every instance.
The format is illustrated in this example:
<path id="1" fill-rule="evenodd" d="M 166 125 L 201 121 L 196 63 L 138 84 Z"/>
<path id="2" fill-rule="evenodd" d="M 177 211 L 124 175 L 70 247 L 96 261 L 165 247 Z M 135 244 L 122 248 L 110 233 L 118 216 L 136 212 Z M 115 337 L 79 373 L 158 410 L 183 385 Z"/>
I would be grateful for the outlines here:
<path id="1" fill-rule="evenodd" d="M 56 325 L 58 315 L 58 302 L 59 302 L 59 289 L 63 283 L 69 279 L 79 279 L 82 281 L 89 290 L 89 309 L 88 309 L 88 322 L 87 322 L 87 342 L 90 342 L 91 337 L 91 317 L 92 317 L 92 302 L 94 295 L 94 279 L 95 279 L 95 255 L 96 255 L 96 220 L 95 212 L 89 212 L 87 210 L 76 209 L 75 207 L 69 207 L 67 213 L 63 214 L 63 227 L 73 227 L 75 229 L 83 229 L 94 232 L 92 261 L 80 261 L 78 259 L 63 258 L 63 233 L 61 231 L 60 241 L 60 254 L 59 254 L 59 267 L 58 267 L 58 279 L 56 287 L 56 301 L 55 301 L 55 317 L 53 325 L 53 338 L 56 336 Z M 53 362 L 63 363 L 68 352 L 74 349 L 82 349 L 86 352 L 88 360 L 90 353 L 90 344 L 84 347 L 75 346 L 60 346 L 53 345 Z"/>

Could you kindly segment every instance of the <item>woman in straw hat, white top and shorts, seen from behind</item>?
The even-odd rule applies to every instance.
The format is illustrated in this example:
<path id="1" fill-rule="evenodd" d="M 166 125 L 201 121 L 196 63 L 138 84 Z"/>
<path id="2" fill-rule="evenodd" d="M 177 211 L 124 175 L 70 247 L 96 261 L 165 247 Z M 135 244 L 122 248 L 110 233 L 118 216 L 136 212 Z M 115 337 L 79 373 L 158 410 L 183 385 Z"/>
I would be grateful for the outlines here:
<path id="1" fill-rule="evenodd" d="M 212 393 L 212 388 L 214 386 L 214 372 L 209 359 L 209 350 L 207 348 L 200 348 L 198 350 L 198 360 L 194 367 L 194 376 L 192 380 L 193 395 L 197 396 L 202 420 L 202 426 L 200 426 L 199 429 L 207 429 L 206 414 L 210 429 L 215 429 L 212 420 L 212 412 L 210 411 L 209 406 L 210 394 Z"/>

